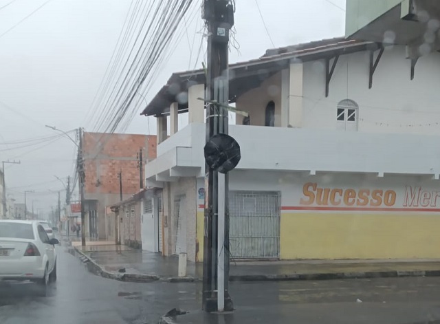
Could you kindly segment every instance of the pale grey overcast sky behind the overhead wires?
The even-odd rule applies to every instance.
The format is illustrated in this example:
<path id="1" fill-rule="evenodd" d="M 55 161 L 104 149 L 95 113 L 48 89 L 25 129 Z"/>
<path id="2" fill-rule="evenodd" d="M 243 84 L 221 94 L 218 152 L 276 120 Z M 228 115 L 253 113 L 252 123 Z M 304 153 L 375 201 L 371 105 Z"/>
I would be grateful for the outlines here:
<path id="1" fill-rule="evenodd" d="M 65 131 L 80 126 L 92 130 L 85 116 L 104 76 L 131 0 L 11 1 L 0 0 L 0 158 L 21 160 L 21 164 L 5 166 L 8 193 L 17 202 L 23 202 L 23 191 L 34 190 L 36 193 L 28 194 L 28 209 L 34 200 L 35 210 L 50 210 L 57 195 L 47 192 L 63 188 L 54 175 L 65 180 L 73 174 L 75 145 L 65 138 L 37 146 L 7 143 L 55 135 L 44 125 Z M 345 0 L 258 0 L 258 3 L 270 36 L 256 1 L 236 0 L 236 43 L 240 50 L 232 49 L 231 63 L 258 58 L 273 47 L 272 41 L 275 47 L 281 47 L 344 35 Z M 151 91 L 145 94 L 147 101 L 170 74 L 195 66 L 199 52 L 195 47 L 201 41 L 202 34 L 198 31 L 202 21 L 199 14 L 190 18 L 186 21 L 188 34 L 176 41 L 175 52 Z M 199 56 L 197 68 L 201 67 L 205 50 Z M 155 133 L 155 120 L 149 119 L 136 114 L 127 133 Z M 26 147 L 15 149 L 19 146 Z M 64 199 L 65 192 L 62 202 Z"/>

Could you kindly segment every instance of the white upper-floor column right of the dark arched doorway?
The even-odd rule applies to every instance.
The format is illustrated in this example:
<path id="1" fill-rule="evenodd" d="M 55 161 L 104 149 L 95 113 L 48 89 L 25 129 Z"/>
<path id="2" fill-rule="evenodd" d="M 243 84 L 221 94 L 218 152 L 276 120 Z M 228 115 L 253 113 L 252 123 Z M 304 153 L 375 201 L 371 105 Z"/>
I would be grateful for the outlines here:
<path id="1" fill-rule="evenodd" d="M 289 126 L 303 126 L 303 63 L 290 65 Z"/>

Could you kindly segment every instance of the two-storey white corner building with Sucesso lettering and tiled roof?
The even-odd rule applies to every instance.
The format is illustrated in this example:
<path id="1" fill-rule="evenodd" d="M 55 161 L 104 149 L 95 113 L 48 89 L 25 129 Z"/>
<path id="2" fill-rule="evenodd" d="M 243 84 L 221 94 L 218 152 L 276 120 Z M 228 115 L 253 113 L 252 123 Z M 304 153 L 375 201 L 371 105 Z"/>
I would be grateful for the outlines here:
<path id="1" fill-rule="evenodd" d="M 230 101 L 250 112 L 250 125 L 230 125 L 241 146 L 231 256 L 440 257 L 439 59 L 415 66 L 404 46 L 331 39 L 231 65 Z M 203 83 L 203 72 L 174 74 L 144 110 L 158 126 L 146 168 L 163 189 L 155 230 L 164 255 L 192 261 L 203 259 Z"/>

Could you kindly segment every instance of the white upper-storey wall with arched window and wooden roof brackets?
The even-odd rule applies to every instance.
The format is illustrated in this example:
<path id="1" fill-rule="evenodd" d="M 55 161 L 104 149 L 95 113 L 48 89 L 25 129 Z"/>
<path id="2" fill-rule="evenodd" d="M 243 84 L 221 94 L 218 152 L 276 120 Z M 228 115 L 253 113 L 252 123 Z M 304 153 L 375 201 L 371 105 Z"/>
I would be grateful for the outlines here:
<path id="1" fill-rule="evenodd" d="M 336 106 L 358 103 L 359 131 L 440 134 L 440 54 L 419 58 L 410 80 L 405 47 L 386 47 L 369 89 L 369 52 L 340 56 L 325 97 L 325 61 L 304 63 L 303 127 L 336 130 Z"/>

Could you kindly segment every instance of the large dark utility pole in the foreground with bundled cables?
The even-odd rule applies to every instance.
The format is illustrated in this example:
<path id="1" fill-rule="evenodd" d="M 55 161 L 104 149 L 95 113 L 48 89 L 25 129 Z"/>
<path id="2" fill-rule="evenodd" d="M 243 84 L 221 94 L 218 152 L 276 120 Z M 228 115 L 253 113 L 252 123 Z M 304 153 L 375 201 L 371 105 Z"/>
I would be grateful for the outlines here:
<path id="1" fill-rule="evenodd" d="M 234 25 L 234 6 L 230 0 L 204 0 L 203 19 L 208 25 L 208 62 L 205 102 L 206 142 L 217 134 L 228 134 L 228 43 Z M 214 103 L 214 102 L 217 102 Z M 229 202 L 228 174 L 206 164 L 206 195 L 203 237 L 203 310 L 231 311 L 229 283 Z M 219 204 L 222 206 L 219 206 Z M 221 213 L 219 213 L 219 211 Z M 220 215 L 221 214 L 221 215 Z M 226 252 L 225 252 L 226 251 Z"/>

